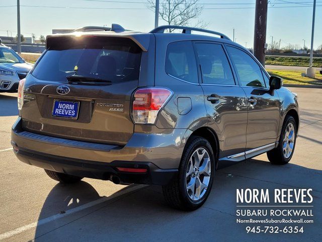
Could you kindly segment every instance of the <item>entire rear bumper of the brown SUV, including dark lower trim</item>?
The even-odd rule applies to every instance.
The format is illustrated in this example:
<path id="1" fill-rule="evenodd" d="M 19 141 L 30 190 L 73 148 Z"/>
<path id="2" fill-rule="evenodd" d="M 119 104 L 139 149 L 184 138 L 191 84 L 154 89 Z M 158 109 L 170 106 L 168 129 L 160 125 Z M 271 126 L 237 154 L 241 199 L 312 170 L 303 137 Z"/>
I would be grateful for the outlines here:
<path id="1" fill-rule="evenodd" d="M 123 183 L 166 185 L 178 173 L 189 130 L 134 133 L 126 146 L 94 144 L 23 131 L 21 117 L 12 128 L 17 157 L 31 165 L 66 174 L 110 179 Z M 120 172 L 116 167 L 146 168 L 147 172 Z"/>

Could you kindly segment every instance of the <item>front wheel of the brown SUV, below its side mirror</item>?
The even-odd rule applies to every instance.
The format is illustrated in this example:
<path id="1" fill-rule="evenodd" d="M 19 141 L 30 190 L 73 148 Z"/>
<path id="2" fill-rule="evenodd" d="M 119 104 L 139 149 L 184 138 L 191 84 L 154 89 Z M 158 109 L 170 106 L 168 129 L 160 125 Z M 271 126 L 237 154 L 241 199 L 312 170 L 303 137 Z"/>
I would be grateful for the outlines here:
<path id="1" fill-rule="evenodd" d="M 292 116 L 286 116 L 278 146 L 267 152 L 269 161 L 274 165 L 287 164 L 294 153 L 296 143 L 296 122 Z"/>

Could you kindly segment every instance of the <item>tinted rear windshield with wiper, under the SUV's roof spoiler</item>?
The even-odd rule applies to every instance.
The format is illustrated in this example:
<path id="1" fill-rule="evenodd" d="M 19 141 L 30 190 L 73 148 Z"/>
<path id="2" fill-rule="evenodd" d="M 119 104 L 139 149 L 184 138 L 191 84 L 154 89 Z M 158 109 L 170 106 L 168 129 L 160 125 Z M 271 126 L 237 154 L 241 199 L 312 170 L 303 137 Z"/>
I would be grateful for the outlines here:
<path id="1" fill-rule="evenodd" d="M 81 38 L 81 39 L 79 39 Z M 82 76 L 120 82 L 139 77 L 141 49 L 116 37 L 54 37 L 32 75 L 40 80 L 67 82 Z"/>

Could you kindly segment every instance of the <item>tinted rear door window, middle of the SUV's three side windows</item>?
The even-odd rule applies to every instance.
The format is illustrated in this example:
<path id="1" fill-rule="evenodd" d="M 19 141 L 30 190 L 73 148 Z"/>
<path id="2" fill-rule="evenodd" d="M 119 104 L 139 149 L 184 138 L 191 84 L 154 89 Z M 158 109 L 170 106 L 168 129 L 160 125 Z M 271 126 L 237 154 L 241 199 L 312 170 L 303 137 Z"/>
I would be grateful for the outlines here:
<path id="1" fill-rule="evenodd" d="M 235 81 L 222 45 L 196 43 L 201 66 L 202 83 L 235 85 Z"/>

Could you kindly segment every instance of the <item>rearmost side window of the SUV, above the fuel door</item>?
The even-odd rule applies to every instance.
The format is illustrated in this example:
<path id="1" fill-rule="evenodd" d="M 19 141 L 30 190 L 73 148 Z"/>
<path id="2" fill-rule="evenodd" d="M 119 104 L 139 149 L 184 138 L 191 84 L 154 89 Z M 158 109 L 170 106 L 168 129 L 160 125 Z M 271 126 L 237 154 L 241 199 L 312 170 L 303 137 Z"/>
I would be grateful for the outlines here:
<path id="1" fill-rule="evenodd" d="M 173 42 L 168 45 L 166 73 L 181 80 L 198 83 L 194 48 L 191 41 Z"/>

